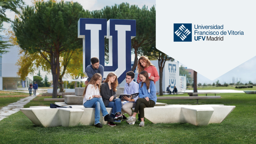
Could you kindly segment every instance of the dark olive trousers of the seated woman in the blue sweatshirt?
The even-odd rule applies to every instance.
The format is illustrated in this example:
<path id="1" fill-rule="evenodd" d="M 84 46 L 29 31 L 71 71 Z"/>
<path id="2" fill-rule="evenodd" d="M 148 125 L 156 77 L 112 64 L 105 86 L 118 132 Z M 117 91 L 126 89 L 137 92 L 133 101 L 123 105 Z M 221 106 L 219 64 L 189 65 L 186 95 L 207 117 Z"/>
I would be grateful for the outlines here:
<path id="1" fill-rule="evenodd" d="M 153 100 L 147 101 L 144 98 L 139 98 L 136 101 L 134 112 L 138 113 L 140 111 L 140 118 L 144 118 L 144 108 L 154 107 L 156 103 Z"/>

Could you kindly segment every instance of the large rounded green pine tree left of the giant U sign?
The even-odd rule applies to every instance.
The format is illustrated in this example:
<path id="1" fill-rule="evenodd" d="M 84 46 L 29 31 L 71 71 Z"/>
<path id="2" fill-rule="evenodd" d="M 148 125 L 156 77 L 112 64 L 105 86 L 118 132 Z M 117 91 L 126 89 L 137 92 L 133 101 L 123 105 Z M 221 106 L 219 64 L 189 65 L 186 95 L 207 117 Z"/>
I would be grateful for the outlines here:
<path id="1" fill-rule="evenodd" d="M 82 47 L 82 40 L 77 38 L 77 21 L 81 17 L 91 16 L 77 2 L 37 2 L 35 7 L 24 8 L 21 20 L 17 18 L 12 24 L 21 49 L 39 53 L 50 65 L 53 98 L 57 97 L 60 55 Z"/>

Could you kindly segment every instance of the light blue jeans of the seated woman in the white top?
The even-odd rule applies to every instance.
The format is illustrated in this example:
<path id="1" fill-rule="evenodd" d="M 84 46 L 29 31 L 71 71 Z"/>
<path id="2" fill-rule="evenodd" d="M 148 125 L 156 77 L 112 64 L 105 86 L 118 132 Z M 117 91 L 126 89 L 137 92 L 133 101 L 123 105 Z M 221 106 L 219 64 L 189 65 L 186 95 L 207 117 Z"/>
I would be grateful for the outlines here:
<path id="1" fill-rule="evenodd" d="M 102 116 L 108 115 L 106 107 L 102 101 L 102 98 L 93 98 L 84 103 L 85 108 L 95 108 L 95 122 L 94 124 L 100 123 L 100 110 L 102 112 Z"/>

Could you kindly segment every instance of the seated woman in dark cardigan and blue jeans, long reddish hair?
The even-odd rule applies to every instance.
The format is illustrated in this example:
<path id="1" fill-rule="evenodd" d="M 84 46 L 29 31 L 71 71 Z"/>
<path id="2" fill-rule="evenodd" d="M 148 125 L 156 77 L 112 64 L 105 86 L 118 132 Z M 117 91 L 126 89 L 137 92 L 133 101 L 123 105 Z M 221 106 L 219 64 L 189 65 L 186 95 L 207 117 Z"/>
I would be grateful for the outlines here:
<path id="1" fill-rule="evenodd" d="M 116 96 L 116 87 L 118 85 L 117 76 L 115 73 L 110 72 L 101 85 L 100 95 L 106 108 L 113 108 L 110 116 L 114 118 L 114 122 L 121 122 L 123 116 L 121 115 L 122 102 Z M 113 122 L 108 123 L 109 126 L 116 126 Z"/>

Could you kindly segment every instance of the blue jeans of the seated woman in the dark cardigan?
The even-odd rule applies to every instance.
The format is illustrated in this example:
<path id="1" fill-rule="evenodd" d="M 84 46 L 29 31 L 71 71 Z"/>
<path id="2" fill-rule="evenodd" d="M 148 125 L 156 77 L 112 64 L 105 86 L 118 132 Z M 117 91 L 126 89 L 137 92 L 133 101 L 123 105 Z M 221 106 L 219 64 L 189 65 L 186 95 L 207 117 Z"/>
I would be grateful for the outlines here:
<path id="1" fill-rule="evenodd" d="M 107 108 L 112 108 L 112 112 L 110 114 L 110 116 L 112 118 L 115 118 L 116 116 L 116 113 L 121 113 L 121 110 L 122 110 L 122 102 L 121 102 L 121 99 L 120 98 L 117 98 L 117 99 L 113 99 L 112 102 L 109 102 L 109 104 L 106 106 Z M 114 120 L 114 122 L 121 122 L 121 120 Z"/>

